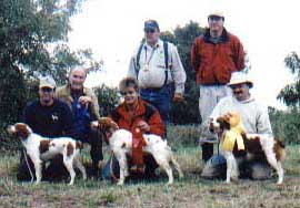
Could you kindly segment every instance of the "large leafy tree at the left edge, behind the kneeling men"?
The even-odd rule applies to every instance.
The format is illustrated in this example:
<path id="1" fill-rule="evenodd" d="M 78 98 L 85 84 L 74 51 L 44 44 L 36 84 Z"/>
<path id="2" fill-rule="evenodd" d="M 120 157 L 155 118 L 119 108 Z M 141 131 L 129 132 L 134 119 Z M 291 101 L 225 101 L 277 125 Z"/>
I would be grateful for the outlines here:
<path id="1" fill-rule="evenodd" d="M 70 17 L 83 1 L 0 0 L 0 129 L 19 119 L 31 86 L 26 83 L 46 74 L 64 82 L 74 65 L 101 65 L 91 50 L 68 46 Z"/>

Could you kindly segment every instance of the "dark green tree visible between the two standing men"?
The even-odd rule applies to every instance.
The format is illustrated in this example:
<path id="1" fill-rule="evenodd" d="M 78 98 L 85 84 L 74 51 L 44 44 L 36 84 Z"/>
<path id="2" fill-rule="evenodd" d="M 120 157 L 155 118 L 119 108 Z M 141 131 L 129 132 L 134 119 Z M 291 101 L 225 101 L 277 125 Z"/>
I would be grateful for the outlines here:
<path id="1" fill-rule="evenodd" d="M 161 38 L 174 43 L 178 48 L 183 67 L 187 73 L 186 95 L 183 103 L 173 103 L 171 106 L 171 121 L 174 124 L 191 124 L 201 122 L 198 107 L 199 90 L 196 83 L 196 72 L 190 63 L 190 50 L 194 38 L 204 31 L 197 22 L 190 21 L 184 27 L 177 27 L 171 32 L 162 32 Z"/>

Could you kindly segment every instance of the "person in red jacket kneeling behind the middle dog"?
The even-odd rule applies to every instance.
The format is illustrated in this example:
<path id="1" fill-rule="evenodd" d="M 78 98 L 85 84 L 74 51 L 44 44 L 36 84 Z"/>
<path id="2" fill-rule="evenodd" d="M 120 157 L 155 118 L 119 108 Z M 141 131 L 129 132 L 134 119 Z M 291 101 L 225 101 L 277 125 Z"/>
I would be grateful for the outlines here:
<path id="1" fill-rule="evenodd" d="M 142 147 L 144 145 L 141 134 L 156 134 L 163 136 L 166 127 L 158 110 L 144 102 L 139 95 L 139 86 L 133 77 L 126 77 L 120 82 L 120 92 L 123 95 L 123 102 L 110 114 L 110 117 L 120 128 L 130 131 L 133 134 L 133 147 L 131 164 L 137 170 L 143 169 L 147 177 L 154 176 L 154 169 L 158 165 L 152 156 L 143 156 Z"/>

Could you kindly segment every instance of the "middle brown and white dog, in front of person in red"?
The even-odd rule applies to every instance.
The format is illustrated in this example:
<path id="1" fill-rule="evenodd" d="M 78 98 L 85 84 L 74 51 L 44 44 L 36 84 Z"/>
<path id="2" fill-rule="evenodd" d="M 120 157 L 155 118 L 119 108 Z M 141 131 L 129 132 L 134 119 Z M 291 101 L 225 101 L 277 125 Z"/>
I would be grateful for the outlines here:
<path id="1" fill-rule="evenodd" d="M 104 138 L 109 143 L 109 146 L 114 154 L 120 166 L 120 179 L 118 185 L 123 185 L 124 178 L 129 176 L 127 155 L 131 156 L 132 153 L 132 134 L 127 129 L 120 129 L 118 125 L 109 117 L 102 117 L 98 122 L 92 123 L 93 127 L 104 135 Z M 151 154 L 157 164 L 167 173 L 169 177 L 168 185 L 173 184 L 173 173 L 170 166 L 172 163 L 179 173 L 179 177 L 182 178 L 183 174 L 179 164 L 177 163 L 171 147 L 168 146 L 167 141 L 163 141 L 160 136 L 154 134 L 143 134 L 146 142 L 143 153 Z"/>

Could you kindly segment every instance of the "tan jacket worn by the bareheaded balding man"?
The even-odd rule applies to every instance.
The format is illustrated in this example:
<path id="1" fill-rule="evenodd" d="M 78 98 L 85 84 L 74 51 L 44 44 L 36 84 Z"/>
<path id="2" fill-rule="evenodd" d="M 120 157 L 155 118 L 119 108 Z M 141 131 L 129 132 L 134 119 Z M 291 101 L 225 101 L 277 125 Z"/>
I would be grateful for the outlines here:
<path id="1" fill-rule="evenodd" d="M 83 95 L 92 98 L 92 104 L 89 106 L 90 114 L 94 119 L 99 119 L 99 104 L 96 94 L 91 89 L 83 87 Z M 71 96 L 71 89 L 69 84 L 58 87 L 56 91 L 56 96 L 71 107 L 73 98 Z"/>

